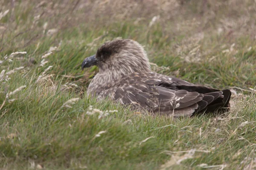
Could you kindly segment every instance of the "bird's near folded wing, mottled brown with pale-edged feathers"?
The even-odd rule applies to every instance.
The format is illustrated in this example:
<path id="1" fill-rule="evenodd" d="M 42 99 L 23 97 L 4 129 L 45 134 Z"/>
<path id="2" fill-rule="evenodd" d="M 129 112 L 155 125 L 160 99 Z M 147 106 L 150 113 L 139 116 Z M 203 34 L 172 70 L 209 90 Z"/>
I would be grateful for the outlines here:
<path id="1" fill-rule="evenodd" d="M 186 90 L 176 91 L 161 85 L 138 82 L 133 86 L 117 88 L 113 97 L 122 104 L 137 104 L 154 113 L 181 116 L 201 111 L 215 98 L 217 99 L 221 92 L 214 95 L 204 95 Z"/>

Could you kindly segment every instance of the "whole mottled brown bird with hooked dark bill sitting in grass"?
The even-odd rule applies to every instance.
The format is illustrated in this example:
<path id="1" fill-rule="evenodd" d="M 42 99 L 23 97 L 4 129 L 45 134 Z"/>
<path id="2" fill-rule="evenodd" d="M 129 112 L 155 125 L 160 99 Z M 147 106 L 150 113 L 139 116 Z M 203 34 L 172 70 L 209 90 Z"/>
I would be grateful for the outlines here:
<path id="1" fill-rule="evenodd" d="M 110 99 L 131 109 L 174 117 L 230 108 L 229 89 L 196 85 L 152 71 L 146 51 L 135 40 L 105 42 L 81 67 L 93 65 L 99 72 L 90 81 L 87 96 L 98 101 Z"/>

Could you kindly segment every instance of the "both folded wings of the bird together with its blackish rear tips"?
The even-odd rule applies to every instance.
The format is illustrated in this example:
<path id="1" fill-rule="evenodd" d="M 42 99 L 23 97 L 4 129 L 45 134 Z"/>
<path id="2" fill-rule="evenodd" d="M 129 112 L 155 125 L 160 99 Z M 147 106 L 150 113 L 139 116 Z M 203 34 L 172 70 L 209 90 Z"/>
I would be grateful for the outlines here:
<path id="1" fill-rule="evenodd" d="M 148 79 L 140 77 L 136 82 L 128 77 L 132 81 L 128 83 L 130 85 L 122 83 L 122 86 L 116 88 L 113 98 L 123 104 L 137 104 L 154 113 L 175 116 L 192 115 L 207 108 L 228 105 L 229 90 L 219 91 L 163 75 L 158 78 L 157 75 L 149 75 Z"/>

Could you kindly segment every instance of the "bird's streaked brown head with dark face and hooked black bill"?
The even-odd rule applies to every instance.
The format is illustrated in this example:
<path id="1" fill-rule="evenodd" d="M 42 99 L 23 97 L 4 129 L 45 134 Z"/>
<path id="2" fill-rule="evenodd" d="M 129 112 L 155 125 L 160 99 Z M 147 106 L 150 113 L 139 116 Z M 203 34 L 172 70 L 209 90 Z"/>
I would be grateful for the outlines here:
<path id="1" fill-rule="evenodd" d="M 106 42 L 95 55 L 84 59 L 82 69 L 97 65 L 99 72 L 116 71 L 129 74 L 150 71 L 148 57 L 143 47 L 134 40 L 118 39 Z"/>

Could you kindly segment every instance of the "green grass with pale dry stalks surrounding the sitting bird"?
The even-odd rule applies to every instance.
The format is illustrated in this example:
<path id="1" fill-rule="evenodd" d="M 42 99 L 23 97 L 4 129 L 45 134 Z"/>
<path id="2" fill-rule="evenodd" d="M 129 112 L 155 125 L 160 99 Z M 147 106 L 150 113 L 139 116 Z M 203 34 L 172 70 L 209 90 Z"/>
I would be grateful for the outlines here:
<path id="1" fill-rule="evenodd" d="M 99 14 L 90 18 L 83 13 L 85 7 L 84 11 L 68 12 L 72 11 L 75 1 L 67 4 L 66 8 L 70 8 L 67 11 L 59 4 L 54 8 L 50 3 L 36 7 L 33 1 L 16 2 L 13 12 L 0 20 L 0 26 L 4 27 L 0 28 L 0 60 L 3 61 L 0 72 L 24 68 L 0 82 L 0 168 L 194 170 L 205 169 L 199 166 L 202 164 L 222 165 L 224 169 L 255 168 L 256 96 L 237 90 L 254 88 L 256 84 L 256 42 L 249 36 L 254 29 L 250 30 L 249 24 L 245 25 L 248 29 L 243 29 L 238 22 L 239 29 L 233 34 L 229 35 L 228 30 L 218 34 L 221 18 L 233 14 L 238 10 L 236 6 L 231 6 L 230 11 L 220 8 L 217 12 L 209 3 L 209 10 L 217 16 L 209 21 L 210 12 L 200 17 L 197 4 L 187 3 L 183 10 L 190 8 L 186 11 L 190 12 L 189 16 L 180 16 L 177 20 L 161 16 L 162 20 L 149 27 L 151 16 L 147 18 L 144 13 L 144 19 L 138 24 L 137 17 L 132 16 L 105 20 L 107 16 Z M 3 4 L 2 11 L 11 7 L 7 1 Z M 147 10 L 157 15 L 154 9 Z M 38 14 L 41 17 L 34 21 Z M 250 11 L 248 14 L 253 15 Z M 206 25 L 204 29 L 193 23 L 192 18 Z M 188 19 L 192 26 L 184 24 Z M 43 32 L 45 22 L 48 26 Z M 175 28 L 176 23 L 181 25 L 180 29 Z M 47 36 L 52 28 L 58 31 Z M 195 36 L 198 30 L 204 37 Z M 81 62 L 95 54 L 103 42 L 116 37 L 131 38 L 145 45 L 150 62 L 169 68 L 156 68 L 159 73 L 214 88 L 236 87 L 238 95 L 232 96 L 231 111 L 223 115 L 212 113 L 172 119 L 134 113 L 109 100 L 96 102 L 87 98 L 86 87 L 98 68 L 81 71 Z M 45 59 L 48 62 L 40 66 L 41 57 L 53 46 L 56 50 Z M 226 49 L 230 52 L 224 53 Z M 15 56 L 12 62 L 4 59 L 16 51 L 27 54 Z M 187 62 L 185 57 L 190 57 L 190 61 L 200 60 Z M 35 62 L 30 62 L 32 59 Z M 38 81 L 49 66 L 52 68 Z M 65 88 L 65 84 L 70 88 Z M 26 88 L 6 98 L 6 94 L 22 85 Z M 73 98 L 79 99 L 68 104 L 72 108 L 65 107 L 64 103 Z M 16 100 L 9 102 L 9 99 Z M 90 105 L 103 112 L 118 112 L 99 119 L 99 113 L 87 114 Z M 105 133 L 97 137 L 101 131 Z M 175 153 L 193 149 L 195 153 L 190 155 Z M 178 164 L 177 160 L 184 156 L 187 159 Z"/>

